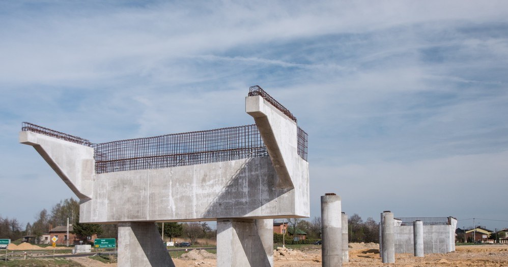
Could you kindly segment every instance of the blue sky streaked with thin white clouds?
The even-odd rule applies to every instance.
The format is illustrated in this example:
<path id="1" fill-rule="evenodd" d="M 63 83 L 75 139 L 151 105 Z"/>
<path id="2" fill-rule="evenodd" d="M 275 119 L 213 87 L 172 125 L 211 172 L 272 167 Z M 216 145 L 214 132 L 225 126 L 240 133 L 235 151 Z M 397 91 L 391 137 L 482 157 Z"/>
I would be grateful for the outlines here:
<path id="1" fill-rule="evenodd" d="M 73 196 L 22 121 L 94 143 L 245 125 L 260 85 L 309 133 L 312 217 L 335 192 L 364 219 L 508 227 L 506 1 L 3 1 L 0 25 L 3 217 Z"/>

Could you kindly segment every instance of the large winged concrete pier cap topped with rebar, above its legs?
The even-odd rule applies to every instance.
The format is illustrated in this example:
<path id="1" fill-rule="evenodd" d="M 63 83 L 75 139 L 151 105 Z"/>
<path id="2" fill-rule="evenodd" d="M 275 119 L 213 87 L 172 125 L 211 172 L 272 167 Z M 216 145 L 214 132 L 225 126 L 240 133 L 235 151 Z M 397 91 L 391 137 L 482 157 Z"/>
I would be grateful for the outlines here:
<path id="1" fill-rule="evenodd" d="M 308 217 L 307 133 L 259 86 L 245 111 L 256 124 L 101 144 L 23 123 L 19 142 L 76 194 L 84 223 Z"/>

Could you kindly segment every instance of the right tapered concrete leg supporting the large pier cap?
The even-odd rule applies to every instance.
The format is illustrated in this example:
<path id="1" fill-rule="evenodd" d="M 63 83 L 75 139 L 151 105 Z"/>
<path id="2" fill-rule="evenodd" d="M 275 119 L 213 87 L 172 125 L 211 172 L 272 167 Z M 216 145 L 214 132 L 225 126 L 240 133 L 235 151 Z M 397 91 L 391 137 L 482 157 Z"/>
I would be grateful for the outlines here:
<path id="1" fill-rule="evenodd" d="M 217 266 L 272 266 L 254 220 L 217 220 Z"/>

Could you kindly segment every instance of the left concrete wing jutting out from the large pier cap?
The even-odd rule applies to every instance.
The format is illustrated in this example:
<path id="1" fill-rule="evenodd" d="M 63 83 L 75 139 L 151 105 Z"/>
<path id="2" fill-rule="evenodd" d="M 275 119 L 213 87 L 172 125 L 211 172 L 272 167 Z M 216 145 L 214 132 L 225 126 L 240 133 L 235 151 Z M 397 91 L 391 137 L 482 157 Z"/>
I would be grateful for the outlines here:
<path id="1" fill-rule="evenodd" d="M 94 149 L 31 131 L 19 133 L 19 143 L 33 146 L 81 202 L 92 198 Z"/>

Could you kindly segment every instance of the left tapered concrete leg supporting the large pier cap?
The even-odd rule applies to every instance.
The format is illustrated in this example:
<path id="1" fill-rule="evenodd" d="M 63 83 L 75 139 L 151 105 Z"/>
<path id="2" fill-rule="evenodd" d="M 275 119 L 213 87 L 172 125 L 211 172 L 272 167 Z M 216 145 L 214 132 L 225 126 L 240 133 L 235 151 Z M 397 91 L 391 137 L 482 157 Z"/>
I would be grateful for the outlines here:
<path id="1" fill-rule="evenodd" d="M 153 222 L 118 224 L 118 266 L 175 267 Z"/>

